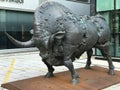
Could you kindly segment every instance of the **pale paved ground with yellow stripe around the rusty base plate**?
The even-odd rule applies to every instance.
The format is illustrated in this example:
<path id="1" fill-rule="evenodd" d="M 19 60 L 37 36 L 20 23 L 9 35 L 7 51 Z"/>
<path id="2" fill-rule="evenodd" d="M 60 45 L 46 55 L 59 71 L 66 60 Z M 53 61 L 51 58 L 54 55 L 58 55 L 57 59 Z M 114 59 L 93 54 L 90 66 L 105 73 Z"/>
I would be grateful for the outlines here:
<path id="1" fill-rule="evenodd" d="M 86 64 L 86 54 L 83 54 L 80 60 L 74 62 L 75 68 L 84 67 Z M 107 61 L 95 60 L 92 58 L 92 65 L 108 68 Z M 120 63 L 114 62 L 115 69 L 120 70 Z M 68 70 L 64 66 L 55 67 L 55 72 Z M 39 52 L 12 53 L 0 55 L 0 85 L 2 83 L 22 80 L 26 78 L 45 75 L 46 65 L 42 62 Z M 7 90 L 2 89 L 0 90 Z M 113 85 L 103 90 L 120 90 L 120 84 Z"/>

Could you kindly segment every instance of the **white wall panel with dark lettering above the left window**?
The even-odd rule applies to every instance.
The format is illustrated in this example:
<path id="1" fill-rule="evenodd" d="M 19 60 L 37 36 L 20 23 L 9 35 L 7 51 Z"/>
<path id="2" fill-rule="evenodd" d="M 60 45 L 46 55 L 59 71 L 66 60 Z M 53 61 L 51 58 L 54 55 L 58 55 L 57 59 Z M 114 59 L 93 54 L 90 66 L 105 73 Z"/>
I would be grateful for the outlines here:
<path id="1" fill-rule="evenodd" d="M 23 3 L 16 3 L 10 0 L 0 0 L 0 9 L 34 11 L 38 6 L 39 0 L 23 0 Z"/>

